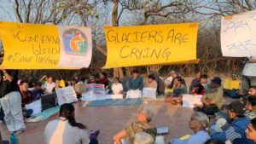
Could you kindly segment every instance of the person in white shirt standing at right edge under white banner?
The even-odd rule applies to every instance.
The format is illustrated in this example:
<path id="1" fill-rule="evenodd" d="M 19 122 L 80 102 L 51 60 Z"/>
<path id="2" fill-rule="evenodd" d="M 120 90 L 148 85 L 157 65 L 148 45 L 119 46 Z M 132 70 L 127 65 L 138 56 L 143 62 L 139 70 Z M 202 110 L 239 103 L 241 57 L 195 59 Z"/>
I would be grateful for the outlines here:
<path id="1" fill-rule="evenodd" d="M 256 56 L 252 56 L 247 61 L 242 71 L 241 89 L 247 95 L 248 89 L 256 85 Z"/>

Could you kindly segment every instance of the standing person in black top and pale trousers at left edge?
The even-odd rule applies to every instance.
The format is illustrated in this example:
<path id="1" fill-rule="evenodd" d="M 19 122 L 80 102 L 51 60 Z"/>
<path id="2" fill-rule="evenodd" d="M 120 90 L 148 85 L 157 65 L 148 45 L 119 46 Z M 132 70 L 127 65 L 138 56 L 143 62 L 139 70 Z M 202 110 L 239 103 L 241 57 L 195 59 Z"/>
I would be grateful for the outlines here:
<path id="1" fill-rule="evenodd" d="M 17 70 L 2 70 L 0 104 L 5 114 L 4 120 L 10 132 L 24 131 L 26 126 L 23 121 L 21 108 L 20 89 L 17 84 Z"/>

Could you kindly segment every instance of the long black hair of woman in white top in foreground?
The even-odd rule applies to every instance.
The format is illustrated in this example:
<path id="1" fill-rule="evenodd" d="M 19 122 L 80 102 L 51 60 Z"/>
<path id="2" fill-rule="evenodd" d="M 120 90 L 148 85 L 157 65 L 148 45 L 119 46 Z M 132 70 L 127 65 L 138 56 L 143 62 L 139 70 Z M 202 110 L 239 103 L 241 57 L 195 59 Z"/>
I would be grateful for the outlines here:
<path id="1" fill-rule="evenodd" d="M 79 129 L 86 129 L 84 124 L 77 123 L 75 118 L 73 117 L 74 107 L 72 104 L 65 103 L 61 105 L 60 109 L 60 117 L 67 118 L 68 124 L 73 127 L 78 127 Z"/>

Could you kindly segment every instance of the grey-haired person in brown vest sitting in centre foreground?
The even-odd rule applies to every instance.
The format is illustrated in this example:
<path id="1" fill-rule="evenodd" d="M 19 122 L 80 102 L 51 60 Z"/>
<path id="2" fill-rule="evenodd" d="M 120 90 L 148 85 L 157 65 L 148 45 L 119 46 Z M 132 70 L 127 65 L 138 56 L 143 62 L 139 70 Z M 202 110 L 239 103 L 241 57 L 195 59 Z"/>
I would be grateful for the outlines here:
<path id="1" fill-rule="evenodd" d="M 115 144 L 121 144 L 121 139 L 124 138 L 127 138 L 129 143 L 134 143 L 135 135 L 139 132 L 146 132 L 155 139 L 156 128 L 149 124 L 154 116 L 154 113 L 154 110 L 149 107 L 140 109 L 137 113 L 137 122 L 128 124 L 125 127 L 125 130 L 121 130 L 118 134 L 114 135 L 113 141 Z"/>

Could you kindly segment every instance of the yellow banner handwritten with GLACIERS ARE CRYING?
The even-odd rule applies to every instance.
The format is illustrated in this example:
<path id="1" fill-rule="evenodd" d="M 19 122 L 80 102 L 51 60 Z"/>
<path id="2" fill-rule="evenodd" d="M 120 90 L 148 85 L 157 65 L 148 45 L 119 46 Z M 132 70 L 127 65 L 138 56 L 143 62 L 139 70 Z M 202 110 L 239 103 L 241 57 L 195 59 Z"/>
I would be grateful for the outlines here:
<path id="1" fill-rule="evenodd" d="M 104 28 L 104 68 L 193 62 L 198 23 Z"/>

